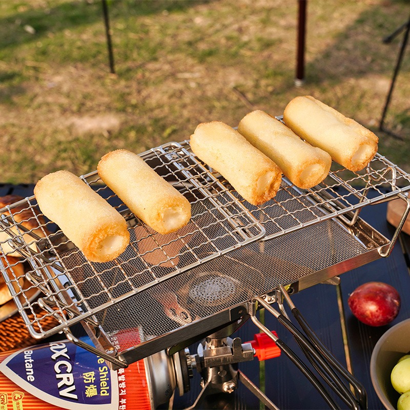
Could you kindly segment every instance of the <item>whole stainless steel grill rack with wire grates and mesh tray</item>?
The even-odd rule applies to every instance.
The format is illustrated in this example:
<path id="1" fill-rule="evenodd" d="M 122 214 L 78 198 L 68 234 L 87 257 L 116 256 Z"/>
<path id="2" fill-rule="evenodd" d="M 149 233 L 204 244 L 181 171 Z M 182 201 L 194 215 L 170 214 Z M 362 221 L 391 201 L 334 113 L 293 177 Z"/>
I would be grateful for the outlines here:
<path id="1" fill-rule="evenodd" d="M 34 197 L 0 210 L 0 231 L 10 236 L 0 241 L 0 250 L 7 257 L 7 244 L 22 256 L 14 265 L 2 258 L 2 273 L 31 335 L 40 339 L 65 331 L 81 343 L 69 333 L 81 321 L 96 352 L 115 366 L 237 320 L 247 315 L 252 298 L 279 285 L 297 292 L 388 255 L 401 226 L 388 240 L 359 212 L 396 197 L 408 202 L 410 190 L 410 176 L 377 154 L 360 173 L 334 164 L 311 190 L 283 178 L 277 196 L 254 207 L 198 161 L 187 141 L 141 156 L 190 200 L 193 216 L 177 234 L 159 235 L 131 214 L 96 172 L 84 176 L 129 224 L 131 243 L 112 262 L 87 261 L 58 227 L 43 220 Z M 16 221 L 23 211 L 43 235 Z M 16 264 L 24 264 L 23 285 L 14 274 Z M 38 289 L 40 298 L 29 296 Z M 57 324 L 45 330 L 42 323 L 49 317 Z"/>

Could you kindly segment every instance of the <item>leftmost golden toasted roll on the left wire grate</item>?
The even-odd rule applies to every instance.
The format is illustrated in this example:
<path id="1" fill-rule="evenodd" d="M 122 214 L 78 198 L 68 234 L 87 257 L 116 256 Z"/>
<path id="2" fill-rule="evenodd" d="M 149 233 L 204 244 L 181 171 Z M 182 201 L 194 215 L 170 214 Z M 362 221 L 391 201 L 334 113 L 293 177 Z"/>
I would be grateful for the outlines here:
<path id="1" fill-rule="evenodd" d="M 130 234 L 126 220 L 84 181 L 68 171 L 40 179 L 38 207 L 92 262 L 108 262 L 125 251 Z"/>

